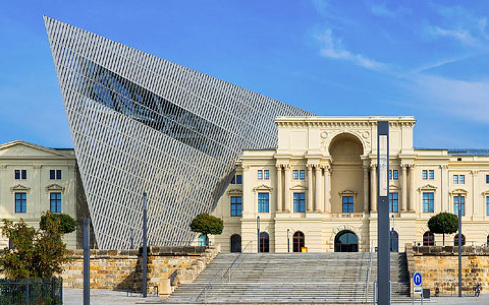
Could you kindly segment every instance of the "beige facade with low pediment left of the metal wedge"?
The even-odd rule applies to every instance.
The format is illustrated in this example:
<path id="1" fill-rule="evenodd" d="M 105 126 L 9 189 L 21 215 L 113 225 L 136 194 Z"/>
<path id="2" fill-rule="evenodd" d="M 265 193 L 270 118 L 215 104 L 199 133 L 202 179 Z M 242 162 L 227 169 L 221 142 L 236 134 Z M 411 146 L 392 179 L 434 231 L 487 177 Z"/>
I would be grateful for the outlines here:
<path id="1" fill-rule="evenodd" d="M 79 183 L 73 149 L 51 149 L 24 141 L 0 145 L 0 220 L 23 219 L 38 228 L 41 213 L 51 208 L 51 198 L 55 209 L 76 220 L 80 211 L 77 197 L 83 195 L 79 194 Z M 66 234 L 68 248 L 76 248 L 76 237 L 77 232 Z M 0 249 L 8 245 L 0 233 Z"/>

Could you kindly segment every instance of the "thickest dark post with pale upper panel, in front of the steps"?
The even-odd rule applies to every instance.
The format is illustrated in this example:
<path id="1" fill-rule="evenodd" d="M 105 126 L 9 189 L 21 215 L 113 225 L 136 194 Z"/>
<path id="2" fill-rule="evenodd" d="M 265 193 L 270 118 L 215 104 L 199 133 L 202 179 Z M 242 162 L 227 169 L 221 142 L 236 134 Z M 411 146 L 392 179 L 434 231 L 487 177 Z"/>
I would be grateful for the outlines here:
<path id="1" fill-rule="evenodd" d="M 377 164 L 377 300 L 379 305 L 390 305 L 389 121 L 377 121 Z"/>

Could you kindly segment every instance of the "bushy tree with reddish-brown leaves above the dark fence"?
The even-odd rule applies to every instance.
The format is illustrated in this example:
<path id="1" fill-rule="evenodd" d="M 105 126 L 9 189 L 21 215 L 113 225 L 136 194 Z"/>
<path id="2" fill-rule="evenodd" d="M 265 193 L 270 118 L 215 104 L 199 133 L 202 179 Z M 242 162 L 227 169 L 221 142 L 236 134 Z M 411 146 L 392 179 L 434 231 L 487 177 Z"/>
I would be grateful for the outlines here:
<path id="1" fill-rule="evenodd" d="M 61 273 L 62 265 L 70 259 L 59 219 L 47 217 L 44 229 L 34 229 L 22 219 L 16 223 L 4 219 L 3 223 L 4 236 L 16 248 L 0 253 L 0 269 L 8 278 L 52 278 Z"/>

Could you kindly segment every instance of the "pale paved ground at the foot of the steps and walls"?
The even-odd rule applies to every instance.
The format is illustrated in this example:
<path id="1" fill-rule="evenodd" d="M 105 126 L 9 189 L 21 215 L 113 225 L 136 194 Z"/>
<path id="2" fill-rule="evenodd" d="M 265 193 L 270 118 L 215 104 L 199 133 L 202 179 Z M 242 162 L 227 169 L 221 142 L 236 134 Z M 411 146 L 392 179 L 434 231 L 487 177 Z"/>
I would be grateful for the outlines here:
<path id="1" fill-rule="evenodd" d="M 64 302 L 65 305 L 80 305 L 83 304 L 83 289 L 73 289 L 64 288 Z M 112 291 L 106 289 L 91 289 L 90 290 L 90 304 L 91 305 L 115 305 L 115 304 L 144 304 L 144 303 L 159 303 L 162 298 L 155 296 L 148 296 L 147 298 L 141 297 L 141 294 L 133 294 L 133 296 L 128 296 L 127 292 L 124 291 Z M 403 304 L 411 303 L 410 300 L 406 299 Z M 420 300 L 417 299 L 417 304 Z M 489 294 L 482 294 L 480 297 L 433 297 L 427 304 L 438 303 L 444 305 L 450 304 L 489 304 Z M 395 304 L 395 303 L 394 303 Z M 291 305 L 289 303 L 288 305 Z"/>

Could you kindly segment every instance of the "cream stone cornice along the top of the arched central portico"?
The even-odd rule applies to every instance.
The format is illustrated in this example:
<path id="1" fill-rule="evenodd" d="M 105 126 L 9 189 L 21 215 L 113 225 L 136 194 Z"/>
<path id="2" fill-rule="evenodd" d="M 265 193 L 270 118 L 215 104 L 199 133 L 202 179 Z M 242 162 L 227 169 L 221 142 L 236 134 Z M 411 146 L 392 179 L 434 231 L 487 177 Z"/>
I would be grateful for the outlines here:
<path id="1" fill-rule="evenodd" d="M 414 116 L 279 116 L 275 123 L 279 127 L 321 127 L 321 128 L 369 128 L 377 126 L 378 120 L 388 120 L 391 127 L 413 127 Z"/>

